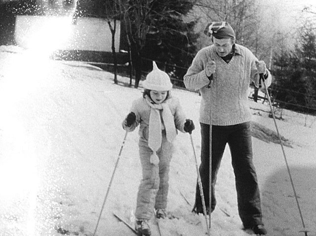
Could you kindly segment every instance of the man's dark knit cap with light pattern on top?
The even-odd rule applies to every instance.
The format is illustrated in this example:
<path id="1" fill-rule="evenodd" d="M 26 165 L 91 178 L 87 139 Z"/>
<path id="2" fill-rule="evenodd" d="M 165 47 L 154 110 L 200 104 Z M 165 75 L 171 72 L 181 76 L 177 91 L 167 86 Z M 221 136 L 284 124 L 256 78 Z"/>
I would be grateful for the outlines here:
<path id="1" fill-rule="evenodd" d="M 225 21 L 211 22 L 207 24 L 204 34 L 208 37 L 213 35 L 216 39 L 235 38 L 233 28 Z"/>

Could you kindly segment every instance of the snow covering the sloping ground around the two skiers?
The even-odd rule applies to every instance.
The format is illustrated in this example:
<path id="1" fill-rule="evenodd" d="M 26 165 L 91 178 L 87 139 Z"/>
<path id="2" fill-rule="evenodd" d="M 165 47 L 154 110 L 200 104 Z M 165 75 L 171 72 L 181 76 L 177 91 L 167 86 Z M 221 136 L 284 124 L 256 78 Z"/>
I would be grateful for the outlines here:
<path id="1" fill-rule="evenodd" d="M 127 78 L 118 77 L 120 82 Z M 127 134 L 121 122 L 142 88 L 113 83 L 113 75 L 80 62 L 32 57 L 12 46 L 0 47 L 0 236 L 92 236 L 109 189 L 97 236 L 133 236 L 112 214 L 130 222 L 141 179 L 138 132 Z M 173 89 L 196 130 L 197 93 Z M 269 106 L 250 106 L 253 120 L 275 130 Z M 307 229 L 316 235 L 315 117 L 283 111 L 276 120 Z M 303 228 L 280 145 L 253 138 L 254 163 L 268 236 L 300 236 Z M 119 160 L 118 160 L 119 158 Z M 112 185 L 109 182 L 118 160 Z M 230 151 L 224 153 L 212 214 L 214 236 L 247 236 L 237 212 Z M 191 213 L 181 193 L 194 203 L 196 165 L 189 134 L 179 133 L 171 161 L 168 216 L 164 236 L 205 235 L 205 218 Z M 153 235 L 158 235 L 151 221 Z"/>

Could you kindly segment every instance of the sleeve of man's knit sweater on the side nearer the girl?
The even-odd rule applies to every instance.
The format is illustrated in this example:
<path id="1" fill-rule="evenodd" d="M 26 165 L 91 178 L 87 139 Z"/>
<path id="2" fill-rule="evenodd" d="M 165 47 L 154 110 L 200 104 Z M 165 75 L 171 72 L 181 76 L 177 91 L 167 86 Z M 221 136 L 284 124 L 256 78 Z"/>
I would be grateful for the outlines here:
<path id="1" fill-rule="evenodd" d="M 190 90 L 198 90 L 210 82 L 204 70 L 203 60 L 207 61 L 207 58 L 204 50 L 200 50 L 193 59 L 187 74 L 183 77 L 185 86 Z"/>

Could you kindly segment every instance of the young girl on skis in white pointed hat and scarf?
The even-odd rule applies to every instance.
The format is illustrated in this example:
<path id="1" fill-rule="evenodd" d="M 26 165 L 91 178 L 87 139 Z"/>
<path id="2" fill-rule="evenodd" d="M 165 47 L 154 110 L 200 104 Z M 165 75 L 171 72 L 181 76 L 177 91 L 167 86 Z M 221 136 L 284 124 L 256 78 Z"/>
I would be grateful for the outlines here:
<path id="1" fill-rule="evenodd" d="M 172 141 L 177 130 L 192 132 L 192 120 L 185 119 L 178 99 L 170 94 L 169 76 L 153 62 L 153 71 L 143 82 L 143 97 L 132 103 L 130 113 L 123 121 L 123 129 L 139 128 L 139 157 L 142 180 L 138 189 L 135 229 L 140 236 L 150 236 L 148 221 L 155 208 L 156 217 L 166 217 L 169 167 Z"/>

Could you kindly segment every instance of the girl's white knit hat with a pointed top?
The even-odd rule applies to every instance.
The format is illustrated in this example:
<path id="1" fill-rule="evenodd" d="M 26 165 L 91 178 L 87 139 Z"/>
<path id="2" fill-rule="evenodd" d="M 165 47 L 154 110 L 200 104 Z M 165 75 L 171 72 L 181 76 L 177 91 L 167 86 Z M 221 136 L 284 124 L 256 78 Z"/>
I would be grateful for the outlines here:
<path id="1" fill-rule="evenodd" d="M 168 74 L 159 70 L 156 62 L 153 61 L 153 70 L 143 81 L 143 87 L 149 90 L 169 91 L 172 89 L 172 83 Z"/>

